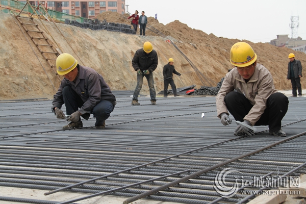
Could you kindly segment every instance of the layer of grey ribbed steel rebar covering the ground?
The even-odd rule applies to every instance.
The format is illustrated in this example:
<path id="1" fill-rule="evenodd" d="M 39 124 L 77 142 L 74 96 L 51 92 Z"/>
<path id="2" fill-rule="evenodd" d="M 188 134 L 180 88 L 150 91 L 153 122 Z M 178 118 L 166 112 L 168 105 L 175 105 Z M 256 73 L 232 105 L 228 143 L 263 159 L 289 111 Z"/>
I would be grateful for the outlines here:
<path id="1" fill-rule="evenodd" d="M 216 117 L 215 97 L 161 97 L 157 98 L 157 106 L 150 105 L 150 98 L 139 97 L 141 105 L 135 107 L 131 105 L 130 93 L 127 97 L 120 94 L 104 130 L 93 129 L 95 118 L 90 117 L 83 121 L 83 129 L 63 131 L 65 120 L 56 119 L 54 113 L 48 112 L 52 106 L 50 100 L 13 104 L 2 101 L 0 181 L 3 182 L 0 186 L 52 191 L 60 186 L 95 180 L 65 191 L 96 194 L 114 190 L 110 195 L 133 197 L 284 139 L 269 136 L 268 126 L 258 126 L 258 132 L 251 137 L 234 136 L 235 123 L 223 126 Z M 306 100 L 289 100 L 282 127 L 288 138 L 304 132 L 306 125 L 303 118 L 306 111 L 296 106 L 305 106 Z M 64 106 L 62 110 L 65 112 Z M 205 117 L 201 118 L 201 113 Z M 226 175 L 224 184 L 229 187 L 237 179 L 259 177 L 268 172 L 273 176 L 282 175 L 306 162 L 305 144 L 306 136 L 300 136 L 200 174 L 148 199 L 209 203 L 220 199 L 214 189 L 220 171 L 226 168 L 238 171 Z M 190 173 L 121 192 L 115 190 L 187 169 Z M 299 176 L 305 171 L 302 167 L 290 175 Z M 244 197 L 237 193 L 218 202 L 235 203 Z M 29 198 L 20 200 L 26 202 Z"/>

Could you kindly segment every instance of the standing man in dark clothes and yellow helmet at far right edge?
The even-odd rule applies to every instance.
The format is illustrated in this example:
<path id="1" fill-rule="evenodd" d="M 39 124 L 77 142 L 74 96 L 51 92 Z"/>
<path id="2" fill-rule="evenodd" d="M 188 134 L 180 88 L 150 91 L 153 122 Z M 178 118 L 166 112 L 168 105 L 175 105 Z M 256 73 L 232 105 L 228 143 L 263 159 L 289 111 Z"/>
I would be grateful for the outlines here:
<path id="1" fill-rule="evenodd" d="M 288 63 L 288 73 L 287 79 L 291 80 L 292 85 L 292 96 L 296 97 L 296 88 L 298 90 L 298 96 L 302 96 L 302 87 L 301 87 L 301 77 L 302 77 L 302 65 L 299 60 L 295 59 L 293 53 L 290 53 L 288 58 L 290 62 Z"/>

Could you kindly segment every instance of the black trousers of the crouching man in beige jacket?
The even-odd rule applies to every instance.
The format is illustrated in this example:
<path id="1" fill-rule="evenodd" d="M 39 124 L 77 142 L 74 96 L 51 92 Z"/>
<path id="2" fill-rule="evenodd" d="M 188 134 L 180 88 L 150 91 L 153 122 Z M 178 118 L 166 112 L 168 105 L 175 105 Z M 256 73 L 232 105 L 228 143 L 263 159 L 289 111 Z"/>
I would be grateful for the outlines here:
<path id="1" fill-rule="evenodd" d="M 227 110 L 235 120 L 243 121 L 243 118 L 253 107 L 250 101 L 241 93 L 230 92 L 224 97 Z M 289 100 L 283 93 L 273 93 L 267 100 L 267 108 L 255 123 L 255 125 L 269 125 L 271 131 L 279 131 L 282 127 L 282 119 L 288 110 Z"/>

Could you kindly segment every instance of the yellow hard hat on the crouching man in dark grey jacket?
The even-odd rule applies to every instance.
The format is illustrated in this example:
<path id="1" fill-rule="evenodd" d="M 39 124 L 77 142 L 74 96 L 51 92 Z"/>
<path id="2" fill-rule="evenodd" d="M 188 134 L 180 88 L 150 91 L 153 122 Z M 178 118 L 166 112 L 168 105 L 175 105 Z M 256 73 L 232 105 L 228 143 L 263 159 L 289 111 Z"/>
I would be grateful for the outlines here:
<path id="1" fill-rule="evenodd" d="M 56 71 L 60 75 L 65 75 L 78 65 L 78 61 L 68 53 L 59 55 L 56 59 Z"/>

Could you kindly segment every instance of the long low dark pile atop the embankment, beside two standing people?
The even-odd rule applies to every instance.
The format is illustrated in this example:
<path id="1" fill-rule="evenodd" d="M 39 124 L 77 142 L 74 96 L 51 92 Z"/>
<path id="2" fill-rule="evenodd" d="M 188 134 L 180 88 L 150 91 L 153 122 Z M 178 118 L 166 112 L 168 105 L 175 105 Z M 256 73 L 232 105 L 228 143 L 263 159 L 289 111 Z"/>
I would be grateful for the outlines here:
<path id="1" fill-rule="evenodd" d="M 65 24 L 74 25 L 80 28 L 91 29 L 91 30 L 107 30 L 107 31 L 135 34 L 135 30 L 132 29 L 131 25 L 129 24 L 107 22 L 106 20 L 103 20 L 101 22 L 98 19 L 85 19 L 84 22 L 79 22 L 77 20 L 65 19 Z"/>

